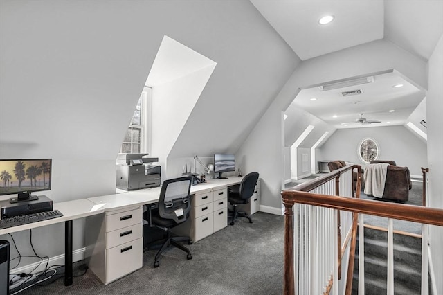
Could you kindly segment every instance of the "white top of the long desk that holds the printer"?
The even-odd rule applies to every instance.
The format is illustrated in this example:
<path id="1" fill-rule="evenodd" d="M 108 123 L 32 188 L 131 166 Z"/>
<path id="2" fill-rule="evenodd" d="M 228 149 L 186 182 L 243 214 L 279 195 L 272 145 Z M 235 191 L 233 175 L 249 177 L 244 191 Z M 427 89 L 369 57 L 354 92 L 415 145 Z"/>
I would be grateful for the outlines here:
<path id="1" fill-rule="evenodd" d="M 243 177 L 228 177 L 227 179 L 206 179 L 206 183 L 191 186 L 190 193 L 195 194 L 204 190 L 224 188 L 239 184 Z M 88 200 L 94 204 L 101 205 L 105 211 L 117 211 L 143 204 L 156 203 L 159 201 L 161 187 L 144 188 L 142 190 L 131 190 L 125 193 L 91 197 Z"/>

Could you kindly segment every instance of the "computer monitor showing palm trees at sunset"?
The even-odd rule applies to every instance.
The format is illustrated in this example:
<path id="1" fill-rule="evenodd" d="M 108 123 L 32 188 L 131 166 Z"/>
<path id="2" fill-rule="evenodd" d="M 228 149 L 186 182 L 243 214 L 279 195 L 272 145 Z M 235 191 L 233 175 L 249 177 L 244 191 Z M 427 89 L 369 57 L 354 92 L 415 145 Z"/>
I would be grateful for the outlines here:
<path id="1" fill-rule="evenodd" d="M 38 199 L 31 193 L 51 190 L 52 159 L 0 159 L 0 195 L 11 203 Z"/>

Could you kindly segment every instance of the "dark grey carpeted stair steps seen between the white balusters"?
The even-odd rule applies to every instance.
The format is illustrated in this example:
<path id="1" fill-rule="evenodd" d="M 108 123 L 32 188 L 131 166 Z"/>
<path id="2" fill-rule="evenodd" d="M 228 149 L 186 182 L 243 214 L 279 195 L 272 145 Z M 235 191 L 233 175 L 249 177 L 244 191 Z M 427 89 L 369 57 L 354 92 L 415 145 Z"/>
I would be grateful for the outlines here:
<path id="1" fill-rule="evenodd" d="M 365 227 L 365 295 L 386 294 L 388 233 Z M 394 294 L 421 292 L 422 239 L 394 233 Z M 352 294 L 359 289 L 359 237 L 357 235 Z"/>

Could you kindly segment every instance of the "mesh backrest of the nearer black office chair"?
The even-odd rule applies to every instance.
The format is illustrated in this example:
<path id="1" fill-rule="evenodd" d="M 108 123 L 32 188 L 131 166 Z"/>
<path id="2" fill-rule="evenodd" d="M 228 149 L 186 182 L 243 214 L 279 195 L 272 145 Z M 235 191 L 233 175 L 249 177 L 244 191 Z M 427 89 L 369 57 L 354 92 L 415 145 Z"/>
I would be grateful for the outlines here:
<path id="1" fill-rule="evenodd" d="M 161 218 L 177 223 L 186 221 L 191 209 L 190 188 L 192 177 L 178 177 L 163 181 L 159 197 L 159 215 Z"/>

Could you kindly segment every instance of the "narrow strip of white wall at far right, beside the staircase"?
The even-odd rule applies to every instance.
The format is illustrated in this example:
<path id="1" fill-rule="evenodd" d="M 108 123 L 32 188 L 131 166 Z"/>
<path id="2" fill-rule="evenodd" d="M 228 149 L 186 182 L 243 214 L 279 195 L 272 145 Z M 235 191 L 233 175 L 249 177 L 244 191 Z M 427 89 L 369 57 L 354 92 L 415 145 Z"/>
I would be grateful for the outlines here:
<path id="1" fill-rule="evenodd" d="M 429 84 L 426 96 L 428 118 L 429 206 L 443 208 L 443 35 L 429 59 Z M 431 226 L 429 247 L 433 260 L 436 294 L 443 294 L 443 227 Z"/>

